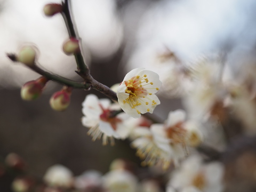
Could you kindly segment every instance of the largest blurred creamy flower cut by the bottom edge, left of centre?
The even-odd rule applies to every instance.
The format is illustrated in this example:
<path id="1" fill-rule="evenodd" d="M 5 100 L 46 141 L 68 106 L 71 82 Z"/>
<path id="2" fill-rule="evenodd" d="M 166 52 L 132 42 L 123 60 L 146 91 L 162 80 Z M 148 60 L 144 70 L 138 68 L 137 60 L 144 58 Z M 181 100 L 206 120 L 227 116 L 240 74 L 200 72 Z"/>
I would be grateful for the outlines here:
<path id="1" fill-rule="evenodd" d="M 125 170 L 113 170 L 103 176 L 103 183 L 109 192 L 135 192 L 138 189 L 137 178 Z"/>

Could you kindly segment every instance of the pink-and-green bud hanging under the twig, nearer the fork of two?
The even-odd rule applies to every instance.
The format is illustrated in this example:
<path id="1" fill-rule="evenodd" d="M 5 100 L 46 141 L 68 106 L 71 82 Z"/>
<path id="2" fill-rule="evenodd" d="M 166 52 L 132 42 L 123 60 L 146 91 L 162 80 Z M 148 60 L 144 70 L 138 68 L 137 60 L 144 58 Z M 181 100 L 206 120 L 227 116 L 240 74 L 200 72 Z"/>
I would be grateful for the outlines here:
<path id="1" fill-rule="evenodd" d="M 50 99 L 50 106 L 57 111 L 68 108 L 70 103 L 71 87 L 54 93 Z"/>

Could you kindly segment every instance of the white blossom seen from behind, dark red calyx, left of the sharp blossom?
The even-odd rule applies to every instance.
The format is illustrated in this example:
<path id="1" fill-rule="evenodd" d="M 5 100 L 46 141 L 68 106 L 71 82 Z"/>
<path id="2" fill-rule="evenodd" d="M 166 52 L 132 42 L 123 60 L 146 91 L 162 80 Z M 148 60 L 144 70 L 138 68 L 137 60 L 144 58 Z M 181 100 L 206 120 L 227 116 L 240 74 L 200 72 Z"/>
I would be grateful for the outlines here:
<path id="1" fill-rule="evenodd" d="M 82 106 L 82 124 L 89 127 L 88 134 L 92 135 L 93 140 L 102 137 L 103 145 L 108 143 L 108 139 L 114 145 L 114 138 L 125 139 L 129 136 L 133 128 L 129 124 L 132 117 L 123 112 L 119 113 L 121 108 L 117 103 L 111 104 L 109 99 L 98 99 L 96 95 L 89 94 Z"/>

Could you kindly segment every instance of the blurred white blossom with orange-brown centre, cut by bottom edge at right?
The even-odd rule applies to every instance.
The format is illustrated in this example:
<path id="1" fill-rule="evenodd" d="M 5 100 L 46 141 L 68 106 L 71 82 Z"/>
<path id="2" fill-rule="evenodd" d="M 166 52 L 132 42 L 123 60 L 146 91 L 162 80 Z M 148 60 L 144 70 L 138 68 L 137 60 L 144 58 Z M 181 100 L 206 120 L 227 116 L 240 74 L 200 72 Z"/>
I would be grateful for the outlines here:
<path id="1" fill-rule="evenodd" d="M 220 162 L 203 164 L 200 156 L 193 155 L 173 172 L 169 186 L 178 191 L 221 192 L 223 169 Z"/>

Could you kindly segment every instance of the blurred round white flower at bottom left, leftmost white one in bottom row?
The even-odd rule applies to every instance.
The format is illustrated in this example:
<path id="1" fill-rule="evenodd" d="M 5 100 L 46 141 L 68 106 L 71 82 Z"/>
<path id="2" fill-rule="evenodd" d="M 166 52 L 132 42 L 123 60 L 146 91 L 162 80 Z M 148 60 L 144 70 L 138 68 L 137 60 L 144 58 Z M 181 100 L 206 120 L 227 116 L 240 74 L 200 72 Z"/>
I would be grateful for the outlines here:
<path id="1" fill-rule="evenodd" d="M 57 164 L 46 170 L 44 181 L 49 186 L 69 188 L 73 186 L 74 177 L 67 167 Z"/>

